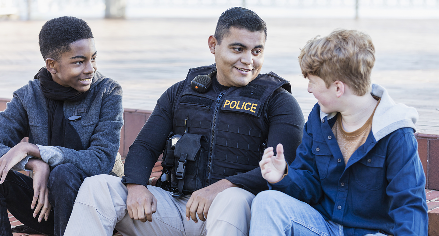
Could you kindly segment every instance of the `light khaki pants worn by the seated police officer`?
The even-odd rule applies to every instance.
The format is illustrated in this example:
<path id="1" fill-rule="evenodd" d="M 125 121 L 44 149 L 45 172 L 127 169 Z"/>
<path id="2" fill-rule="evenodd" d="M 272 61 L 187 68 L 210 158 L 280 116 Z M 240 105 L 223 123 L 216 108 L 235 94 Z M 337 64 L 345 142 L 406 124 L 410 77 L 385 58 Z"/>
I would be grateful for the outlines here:
<path id="1" fill-rule="evenodd" d="M 130 218 L 126 210 L 126 186 L 121 178 L 96 175 L 84 180 L 68 221 L 65 236 L 246 236 L 250 229 L 250 207 L 255 197 L 240 188 L 219 193 L 209 208 L 206 222 L 186 220 L 190 196 L 173 198 L 172 193 L 155 186 L 148 190 L 157 198 L 152 222 Z"/>

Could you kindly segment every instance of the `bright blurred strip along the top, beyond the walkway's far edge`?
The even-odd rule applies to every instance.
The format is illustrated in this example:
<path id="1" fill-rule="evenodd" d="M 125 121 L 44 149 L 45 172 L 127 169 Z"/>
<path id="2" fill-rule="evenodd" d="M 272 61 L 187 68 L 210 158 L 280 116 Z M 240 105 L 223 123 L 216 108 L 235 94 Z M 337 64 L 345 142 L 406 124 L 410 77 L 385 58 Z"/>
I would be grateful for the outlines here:
<path id="1" fill-rule="evenodd" d="M 0 14 L 27 20 L 205 18 L 235 6 L 274 18 L 439 18 L 438 0 L 0 0 Z"/>

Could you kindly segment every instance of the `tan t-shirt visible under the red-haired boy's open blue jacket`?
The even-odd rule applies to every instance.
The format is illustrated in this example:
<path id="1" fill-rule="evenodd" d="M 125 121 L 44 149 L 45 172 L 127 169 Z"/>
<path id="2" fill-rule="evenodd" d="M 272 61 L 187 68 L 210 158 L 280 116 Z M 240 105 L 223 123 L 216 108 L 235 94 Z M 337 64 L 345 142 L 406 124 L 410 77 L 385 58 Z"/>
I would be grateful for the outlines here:
<path id="1" fill-rule="evenodd" d="M 381 99 L 378 97 L 374 98 L 378 100 L 378 106 Z M 375 109 L 377 109 L 377 107 L 375 107 Z M 348 163 L 349 158 L 352 156 L 355 150 L 366 142 L 367 136 L 372 129 L 372 118 L 374 117 L 375 109 L 374 112 L 372 112 L 371 117 L 367 119 L 366 123 L 364 123 L 360 129 L 357 129 L 353 132 L 346 132 L 345 129 L 343 129 L 342 114 L 338 112 L 337 121 L 335 122 L 334 126 L 332 126 L 332 132 L 334 133 L 335 139 L 337 139 L 338 147 L 340 147 L 340 150 L 342 151 L 345 164 Z"/>

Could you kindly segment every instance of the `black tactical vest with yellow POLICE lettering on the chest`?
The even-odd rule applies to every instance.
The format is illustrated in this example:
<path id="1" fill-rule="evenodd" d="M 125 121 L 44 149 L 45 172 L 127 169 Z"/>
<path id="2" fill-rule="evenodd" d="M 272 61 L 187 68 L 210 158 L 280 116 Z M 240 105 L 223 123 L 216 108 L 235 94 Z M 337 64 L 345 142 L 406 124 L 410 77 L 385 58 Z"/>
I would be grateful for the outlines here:
<path id="1" fill-rule="evenodd" d="M 264 106 L 281 86 L 291 93 L 289 82 L 272 72 L 222 92 L 211 87 L 200 93 L 191 88 L 195 76 L 214 70 L 215 64 L 189 70 L 174 104 L 173 132 L 183 135 L 187 129 L 207 138 L 205 154 L 196 163 L 186 164 L 185 178 L 198 182 L 194 190 L 258 167 L 269 129 Z"/>

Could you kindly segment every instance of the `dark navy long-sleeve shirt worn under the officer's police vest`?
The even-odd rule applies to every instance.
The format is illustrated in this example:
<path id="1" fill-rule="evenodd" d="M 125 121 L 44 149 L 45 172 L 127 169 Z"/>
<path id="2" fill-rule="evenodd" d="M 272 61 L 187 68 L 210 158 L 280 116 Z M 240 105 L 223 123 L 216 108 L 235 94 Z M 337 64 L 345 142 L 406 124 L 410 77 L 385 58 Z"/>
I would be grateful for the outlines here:
<path id="1" fill-rule="evenodd" d="M 172 131 L 173 104 L 182 84 L 183 81 L 174 84 L 158 99 L 151 116 L 130 146 L 125 161 L 123 183 L 147 186 L 152 168 L 162 154 L 166 139 Z M 216 79 L 212 86 L 217 86 L 219 90 L 228 89 L 220 85 Z M 302 140 L 305 123 L 302 110 L 290 93 L 279 88 L 269 98 L 266 111 L 266 119 L 270 125 L 267 147 L 276 147 L 278 143 L 282 143 L 285 153 L 288 154 L 285 158 L 291 163 Z M 226 179 L 253 194 L 268 190 L 259 167 Z"/>

